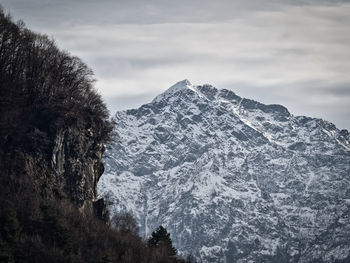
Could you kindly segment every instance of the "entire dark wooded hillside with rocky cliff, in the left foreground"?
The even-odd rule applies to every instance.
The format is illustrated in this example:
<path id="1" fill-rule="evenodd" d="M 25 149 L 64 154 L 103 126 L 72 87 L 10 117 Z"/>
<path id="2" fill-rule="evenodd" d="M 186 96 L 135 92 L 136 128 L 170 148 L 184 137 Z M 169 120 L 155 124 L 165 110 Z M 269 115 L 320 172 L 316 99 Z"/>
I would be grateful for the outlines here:
<path id="1" fill-rule="evenodd" d="M 97 182 L 109 113 L 92 71 L 0 10 L 0 262 L 180 262 L 111 228 Z"/>

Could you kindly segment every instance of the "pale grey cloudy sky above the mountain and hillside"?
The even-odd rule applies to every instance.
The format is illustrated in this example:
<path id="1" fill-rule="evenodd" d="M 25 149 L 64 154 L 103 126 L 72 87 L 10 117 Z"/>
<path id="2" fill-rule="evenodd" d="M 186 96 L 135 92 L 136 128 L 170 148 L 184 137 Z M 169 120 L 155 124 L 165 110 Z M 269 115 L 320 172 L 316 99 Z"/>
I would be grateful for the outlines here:
<path id="1" fill-rule="evenodd" d="M 112 112 L 185 78 L 350 130 L 350 0 L 0 0 L 95 72 Z"/>

